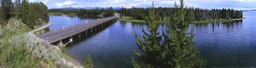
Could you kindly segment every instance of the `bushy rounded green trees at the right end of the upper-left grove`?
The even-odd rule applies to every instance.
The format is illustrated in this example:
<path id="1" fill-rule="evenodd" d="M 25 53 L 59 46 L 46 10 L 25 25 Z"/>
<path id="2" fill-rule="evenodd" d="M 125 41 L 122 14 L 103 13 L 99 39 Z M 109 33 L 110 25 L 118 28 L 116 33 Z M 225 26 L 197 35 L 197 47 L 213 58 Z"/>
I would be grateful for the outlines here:
<path id="1" fill-rule="evenodd" d="M 21 18 L 22 22 L 25 22 L 30 28 L 34 26 L 44 24 L 36 23 L 37 21 L 49 21 L 48 7 L 44 3 L 29 3 L 27 0 L 23 0 L 21 4 Z"/>

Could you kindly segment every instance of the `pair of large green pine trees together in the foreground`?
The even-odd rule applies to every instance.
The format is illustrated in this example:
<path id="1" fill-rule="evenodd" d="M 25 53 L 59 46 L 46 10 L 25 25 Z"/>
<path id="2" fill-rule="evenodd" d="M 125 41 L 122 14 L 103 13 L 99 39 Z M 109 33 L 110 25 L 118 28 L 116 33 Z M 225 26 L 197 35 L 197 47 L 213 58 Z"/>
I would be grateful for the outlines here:
<path id="1" fill-rule="evenodd" d="M 189 24 L 193 22 L 193 13 L 184 8 L 183 0 L 180 7 L 176 5 L 174 12 L 168 18 L 167 28 L 163 35 L 159 35 L 157 29 L 159 19 L 155 9 L 150 13 L 147 20 L 148 32 L 144 33 L 143 39 L 137 34 L 136 43 L 142 54 L 132 50 L 135 60 L 131 63 L 135 68 L 202 68 L 205 62 L 199 57 L 199 51 L 193 46 L 193 33 L 187 33 Z M 163 29 L 164 30 L 164 29 Z M 161 43 L 162 42 L 162 43 Z M 136 62 L 139 61 L 139 62 Z"/>

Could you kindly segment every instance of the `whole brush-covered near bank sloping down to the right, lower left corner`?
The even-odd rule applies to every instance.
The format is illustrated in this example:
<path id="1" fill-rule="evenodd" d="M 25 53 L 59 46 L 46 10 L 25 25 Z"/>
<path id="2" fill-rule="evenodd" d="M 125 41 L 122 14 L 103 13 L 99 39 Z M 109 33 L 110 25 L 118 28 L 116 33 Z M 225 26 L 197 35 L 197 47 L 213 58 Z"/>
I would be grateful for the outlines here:
<path id="1" fill-rule="evenodd" d="M 28 33 L 33 29 L 11 18 L 0 34 L 0 67 L 73 68 L 79 63 L 68 58 L 57 46 Z"/>

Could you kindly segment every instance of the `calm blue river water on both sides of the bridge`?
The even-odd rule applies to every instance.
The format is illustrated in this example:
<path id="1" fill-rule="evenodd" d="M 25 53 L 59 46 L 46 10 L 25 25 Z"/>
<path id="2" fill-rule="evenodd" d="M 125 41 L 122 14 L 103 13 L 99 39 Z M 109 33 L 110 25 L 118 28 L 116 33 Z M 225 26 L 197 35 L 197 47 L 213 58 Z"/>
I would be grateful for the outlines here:
<path id="1" fill-rule="evenodd" d="M 195 46 L 207 61 L 206 67 L 256 67 L 256 12 L 244 12 L 244 17 L 241 22 L 191 24 Z M 93 18 L 50 16 L 51 23 L 62 25 L 51 28 L 86 20 Z M 74 39 L 66 52 L 81 64 L 84 64 L 86 53 L 91 52 L 95 68 L 130 68 L 131 50 L 138 50 L 134 33 L 142 35 L 142 27 L 146 26 L 115 21 L 105 29 Z"/>

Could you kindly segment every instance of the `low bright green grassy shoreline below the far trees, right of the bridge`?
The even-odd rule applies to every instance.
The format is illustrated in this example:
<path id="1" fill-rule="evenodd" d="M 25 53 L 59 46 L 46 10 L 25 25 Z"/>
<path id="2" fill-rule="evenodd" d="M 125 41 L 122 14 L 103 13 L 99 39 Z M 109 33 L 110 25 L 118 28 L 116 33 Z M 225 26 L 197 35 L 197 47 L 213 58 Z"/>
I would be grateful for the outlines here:
<path id="1" fill-rule="evenodd" d="M 145 20 L 138 20 L 138 19 L 134 19 L 134 18 L 131 18 L 131 17 L 127 17 L 127 16 L 118 18 L 117 20 L 125 21 L 125 22 L 138 22 L 138 23 L 146 22 Z M 231 21 L 237 21 L 237 20 L 242 20 L 242 18 L 240 18 L 240 19 L 231 19 L 231 20 L 227 20 L 227 19 L 219 19 L 219 20 L 207 19 L 207 20 L 199 20 L 199 21 L 195 20 L 192 23 L 193 24 L 204 24 L 204 23 L 214 23 L 214 22 L 231 22 Z"/>

